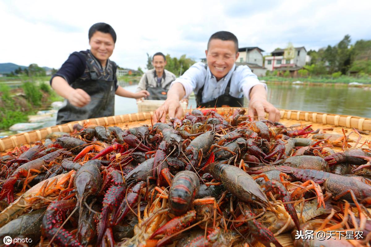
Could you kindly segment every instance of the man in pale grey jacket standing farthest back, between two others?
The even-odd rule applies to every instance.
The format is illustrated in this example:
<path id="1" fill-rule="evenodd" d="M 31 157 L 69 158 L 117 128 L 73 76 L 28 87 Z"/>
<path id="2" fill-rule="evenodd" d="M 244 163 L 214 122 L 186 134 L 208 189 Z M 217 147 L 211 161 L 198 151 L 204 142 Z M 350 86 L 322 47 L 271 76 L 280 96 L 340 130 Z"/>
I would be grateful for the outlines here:
<path id="1" fill-rule="evenodd" d="M 150 96 L 146 99 L 166 99 L 167 90 L 169 90 L 171 82 L 176 78 L 173 73 L 164 69 L 166 63 L 166 57 L 161 52 L 157 52 L 153 55 L 152 65 L 154 68 L 143 74 L 137 88 L 137 92 L 147 90 L 150 93 Z"/>

